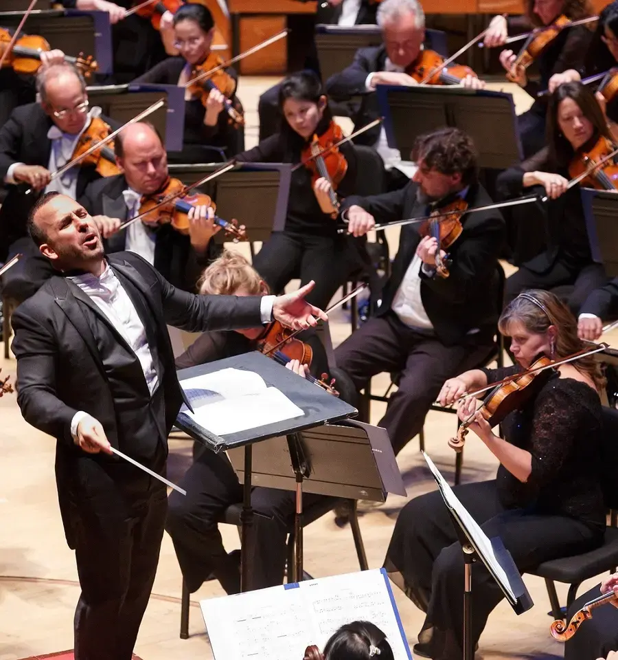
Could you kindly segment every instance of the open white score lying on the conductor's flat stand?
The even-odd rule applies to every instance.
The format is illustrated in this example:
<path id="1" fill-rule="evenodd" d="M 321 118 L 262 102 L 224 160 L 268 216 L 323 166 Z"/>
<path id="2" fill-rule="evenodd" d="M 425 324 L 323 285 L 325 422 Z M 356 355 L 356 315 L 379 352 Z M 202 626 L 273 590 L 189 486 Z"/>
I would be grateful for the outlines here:
<path id="1" fill-rule="evenodd" d="M 181 382 L 194 412 L 181 408 L 199 426 L 217 435 L 302 417 L 304 412 L 254 371 L 221 369 Z"/>

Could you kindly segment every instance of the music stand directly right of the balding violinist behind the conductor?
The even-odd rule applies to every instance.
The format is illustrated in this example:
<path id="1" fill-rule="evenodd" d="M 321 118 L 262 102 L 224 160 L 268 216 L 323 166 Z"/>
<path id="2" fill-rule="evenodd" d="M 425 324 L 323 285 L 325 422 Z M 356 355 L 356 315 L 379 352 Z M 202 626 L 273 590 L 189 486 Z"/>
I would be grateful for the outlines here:
<path id="1" fill-rule="evenodd" d="M 194 184 L 220 166 L 220 163 L 170 165 L 169 170 L 170 176 L 184 184 Z M 236 218 L 245 225 L 251 243 L 267 241 L 273 231 L 282 231 L 286 224 L 290 173 L 291 166 L 286 163 L 239 163 L 201 190 L 214 199 L 219 217 Z M 238 190 L 242 190 L 242 195 Z"/>

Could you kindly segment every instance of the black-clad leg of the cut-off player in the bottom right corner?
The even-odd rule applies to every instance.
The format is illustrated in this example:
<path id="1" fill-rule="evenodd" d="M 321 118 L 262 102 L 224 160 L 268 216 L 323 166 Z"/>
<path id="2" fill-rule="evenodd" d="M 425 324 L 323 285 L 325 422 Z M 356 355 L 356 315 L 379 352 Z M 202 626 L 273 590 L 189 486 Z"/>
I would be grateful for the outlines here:
<path id="1" fill-rule="evenodd" d="M 601 585 L 575 599 L 567 613 L 567 621 L 593 598 L 601 595 Z M 571 639 L 564 643 L 564 660 L 597 660 L 618 650 L 618 610 L 611 604 L 597 607 L 592 619 L 584 621 Z"/>

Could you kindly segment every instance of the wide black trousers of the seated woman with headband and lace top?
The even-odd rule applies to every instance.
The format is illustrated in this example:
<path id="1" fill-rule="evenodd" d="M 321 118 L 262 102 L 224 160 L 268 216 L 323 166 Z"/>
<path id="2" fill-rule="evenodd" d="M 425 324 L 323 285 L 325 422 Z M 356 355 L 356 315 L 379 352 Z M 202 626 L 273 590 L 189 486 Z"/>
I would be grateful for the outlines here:
<path id="1" fill-rule="evenodd" d="M 603 531 L 568 516 L 505 510 L 495 481 L 456 486 L 455 494 L 489 538 L 499 536 L 520 571 L 597 547 Z M 393 581 L 425 613 L 419 641 L 433 660 L 461 660 L 464 653 L 464 553 L 442 495 L 411 500 L 400 512 L 385 560 Z M 490 612 L 503 599 L 483 564 L 472 566 L 472 640 L 477 643 Z"/>

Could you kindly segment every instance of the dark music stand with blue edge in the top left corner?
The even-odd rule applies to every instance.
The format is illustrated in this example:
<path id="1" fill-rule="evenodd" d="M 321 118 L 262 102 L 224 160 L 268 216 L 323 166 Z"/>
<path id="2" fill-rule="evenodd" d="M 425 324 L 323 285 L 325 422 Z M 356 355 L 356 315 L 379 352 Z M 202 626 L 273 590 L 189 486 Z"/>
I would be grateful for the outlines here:
<path id="1" fill-rule="evenodd" d="M 30 14 L 22 32 L 40 34 L 52 48 L 60 48 L 73 57 L 80 53 L 92 55 L 97 61 L 97 73 L 111 74 L 113 49 L 109 14 L 73 9 L 49 10 L 49 3 L 46 6 L 47 9 L 34 10 Z M 0 22 L 6 28 L 16 28 L 25 8 L 21 1 L 0 0 Z"/>

